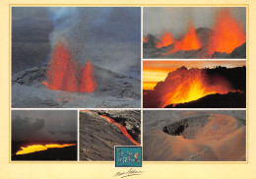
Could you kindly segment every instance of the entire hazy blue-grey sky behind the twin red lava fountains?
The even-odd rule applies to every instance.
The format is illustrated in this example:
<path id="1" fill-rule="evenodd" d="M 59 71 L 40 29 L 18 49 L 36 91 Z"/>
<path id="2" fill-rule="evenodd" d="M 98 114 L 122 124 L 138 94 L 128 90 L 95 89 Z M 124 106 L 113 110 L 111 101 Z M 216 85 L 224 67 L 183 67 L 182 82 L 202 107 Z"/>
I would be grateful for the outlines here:
<path id="1" fill-rule="evenodd" d="M 63 40 L 75 60 L 130 76 L 141 62 L 141 8 L 12 8 L 12 73 L 47 64 Z M 140 71 L 137 73 L 140 79 Z"/>

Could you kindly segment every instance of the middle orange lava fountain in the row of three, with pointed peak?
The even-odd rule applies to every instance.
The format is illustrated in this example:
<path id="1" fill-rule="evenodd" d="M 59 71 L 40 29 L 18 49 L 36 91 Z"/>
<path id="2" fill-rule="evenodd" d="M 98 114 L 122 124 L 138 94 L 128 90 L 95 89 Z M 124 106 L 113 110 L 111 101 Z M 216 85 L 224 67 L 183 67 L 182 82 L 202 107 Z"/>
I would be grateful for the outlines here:
<path id="1" fill-rule="evenodd" d="M 171 54 L 179 50 L 197 50 L 199 48 L 201 48 L 201 43 L 197 38 L 193 25 L 190 23 L 185 36 L 181 40 L 176 41 L 173 49 L 164 55 Z"/>

